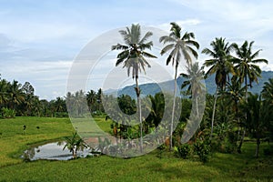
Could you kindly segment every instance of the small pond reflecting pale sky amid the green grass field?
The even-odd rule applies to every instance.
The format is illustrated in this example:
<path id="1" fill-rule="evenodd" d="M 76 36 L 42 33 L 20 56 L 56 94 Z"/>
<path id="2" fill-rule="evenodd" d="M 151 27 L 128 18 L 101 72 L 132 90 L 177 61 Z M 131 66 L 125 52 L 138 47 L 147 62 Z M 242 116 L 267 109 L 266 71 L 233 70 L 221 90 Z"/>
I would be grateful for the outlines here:
<path id="1" fill-rule="evenodd" d="M 65 142 L 48 143 L 43 146 L 32 147 L 25 150 L 22 156 L 29 160 L 47 159 L 47 160 L 69 160 L 73 158 L 72 153 L 65 147 Z M 77 157 L 92 156 L 91 149 L 85 148 L 84 151 L 77 151 Z"/>

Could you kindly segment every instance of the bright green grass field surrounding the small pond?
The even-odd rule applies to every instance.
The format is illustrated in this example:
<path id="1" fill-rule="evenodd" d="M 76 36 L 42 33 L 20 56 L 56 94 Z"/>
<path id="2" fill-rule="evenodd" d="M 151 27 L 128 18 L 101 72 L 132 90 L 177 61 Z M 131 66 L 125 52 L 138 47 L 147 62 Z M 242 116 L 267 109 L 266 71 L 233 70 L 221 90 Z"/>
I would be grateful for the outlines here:
<path id="1" fill-rule="evenodd" d="M 103 118 L 96 122 L 110 131 L 110 122 Z M 72 132 L 69 118 L 0 120 L 0 181 L 273 181 L 273 158 L 262 154 L 267 143 L 261 145 L 258 159 L 253 157 L 255 144 L 246 143 L 243 154 L 217 153 L 206 164 L 169 152 L 160 158 L 158 151 L 129 159 L 101 156 L 24 162 L 19 158 L 31 145 L 71 136 Z"/>

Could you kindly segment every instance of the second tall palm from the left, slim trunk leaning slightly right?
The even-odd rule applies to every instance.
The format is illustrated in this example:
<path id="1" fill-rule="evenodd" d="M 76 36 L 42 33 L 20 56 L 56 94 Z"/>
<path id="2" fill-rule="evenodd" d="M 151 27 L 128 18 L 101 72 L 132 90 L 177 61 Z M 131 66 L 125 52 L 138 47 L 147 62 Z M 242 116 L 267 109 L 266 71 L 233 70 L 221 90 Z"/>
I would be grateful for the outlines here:
<path id="1" fill-rule="evenodd" d="M 199 48 L 199 44 L 194 40 L 195 35 L 194 33 L 185 33 L 181 35 L 181 27 L 177 25 L 177 23 L 172 22 L 172 25 L 169 35 L 164 35 L 159 38 L 159 42 L 166 45 L 161 50 L 161 55 L 169 53 L 167 57 L 167 65 L 172 62 L 172 66 L 175 66 L 175 88 L 174 88 L 174 102 L 173 102 L 173 109 L 172 109 L 172 120 L 170 126 L 170 137 L 169 137 L 169 149 L 172 149 L 172 133 L 173 133 L 173 123 L 174 123 L 174 116 L 175 116 L 175 107 L 176 107 L 176 94 L 177 94 L 177 68 L 181 61 L 181 57 L 183 56 L 186 60 L 187 64 L 192 62 L 192 56 L 197 58 L 197 51 L 193 48 Z M 193 46 L 193 47 L 192 47 Z"/>

